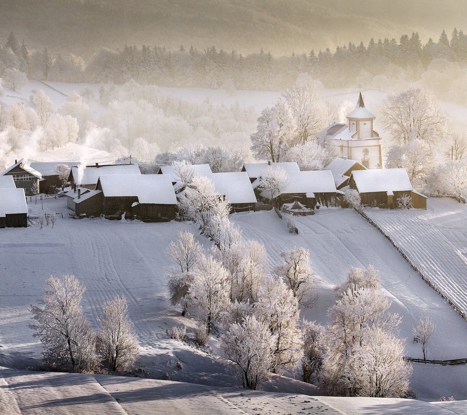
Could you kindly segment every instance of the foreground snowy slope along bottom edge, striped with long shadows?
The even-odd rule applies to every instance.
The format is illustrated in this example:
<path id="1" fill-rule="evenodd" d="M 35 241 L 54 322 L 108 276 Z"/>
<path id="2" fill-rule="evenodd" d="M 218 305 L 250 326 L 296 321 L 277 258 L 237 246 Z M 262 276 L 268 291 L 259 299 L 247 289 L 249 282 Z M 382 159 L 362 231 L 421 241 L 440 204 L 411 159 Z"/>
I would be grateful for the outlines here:
<path id="1" fill-rule="evenodd" d="M 452 409 L 451 409 L 452 408 Z M 166 380 L 0 368 L 0 413 L 19 414 L 467 414 L 466 402 L 332 398 Z"/>

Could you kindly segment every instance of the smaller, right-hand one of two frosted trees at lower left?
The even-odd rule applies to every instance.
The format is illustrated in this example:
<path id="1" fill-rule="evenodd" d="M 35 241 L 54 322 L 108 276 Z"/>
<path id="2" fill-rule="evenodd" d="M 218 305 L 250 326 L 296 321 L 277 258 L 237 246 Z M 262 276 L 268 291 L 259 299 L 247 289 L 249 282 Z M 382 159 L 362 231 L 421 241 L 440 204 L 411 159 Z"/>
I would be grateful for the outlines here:
<path id="1" fill-rule="evenodd" d="M 107 301 L 97 321 L 101 326 L 97 334 L 97 353 L 104 366 L 112 372 L 130 367 L 138 358 L 140 347 L 125 297 L 116 296 Z"/>

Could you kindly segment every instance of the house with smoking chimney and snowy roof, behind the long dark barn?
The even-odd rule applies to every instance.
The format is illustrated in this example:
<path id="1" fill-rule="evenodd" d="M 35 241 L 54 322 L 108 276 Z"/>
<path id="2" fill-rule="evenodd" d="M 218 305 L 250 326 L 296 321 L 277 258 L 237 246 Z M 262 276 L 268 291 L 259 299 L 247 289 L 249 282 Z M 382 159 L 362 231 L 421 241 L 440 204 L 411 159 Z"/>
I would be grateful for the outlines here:
<path id="1" fill-rule="evenodd" d="M 80 186 L 86 189 L 94 190 L 97 180 L 102 175 L 116 174 L 141 174 L 137 164 L 103 164 L 96 163 L 91 166 L 72 167 L 68 181 L 72 188 Z"/>

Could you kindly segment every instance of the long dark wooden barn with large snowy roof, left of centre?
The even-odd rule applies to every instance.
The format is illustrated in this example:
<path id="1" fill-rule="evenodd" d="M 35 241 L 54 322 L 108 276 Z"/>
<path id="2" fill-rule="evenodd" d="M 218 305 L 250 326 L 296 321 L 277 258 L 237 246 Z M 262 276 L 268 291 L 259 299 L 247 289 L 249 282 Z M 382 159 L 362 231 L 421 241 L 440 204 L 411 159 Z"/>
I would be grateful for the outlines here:
<path id="1" fill-rule="evenodd" d="M 101 193 L 84 195 L 88 203 L 95 206 L 96 214 L 102 213 L 114 218 L 125 214 L 128 219 L 145 222 L 169 221 L 175 218 L 177 198 L 167 175 L 102 175 L 96 190 Z"/>

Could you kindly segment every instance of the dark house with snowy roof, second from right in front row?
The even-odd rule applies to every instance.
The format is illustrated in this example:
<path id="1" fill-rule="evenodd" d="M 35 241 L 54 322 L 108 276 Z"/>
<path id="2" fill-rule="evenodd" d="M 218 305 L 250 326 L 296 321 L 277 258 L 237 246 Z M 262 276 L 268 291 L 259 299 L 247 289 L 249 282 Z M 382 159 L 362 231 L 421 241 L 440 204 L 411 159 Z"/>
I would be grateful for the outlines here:
<path id="1" fill-rule="evenodd" d="M 300 202 L 308 208 L 314 208 L 316 204 L 330 206 L 339 203 L 340 190 L 336 190 L 334 177 L 329 170 L 292 172 L 288 173 L 287 186 L 279 193 L 272 195 L 279 206 L 284 203 Z M 271 194 L 263 190 L 261 196 L 270 199 Z"/>

